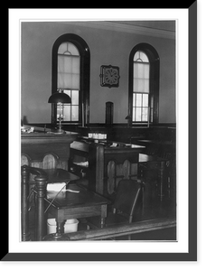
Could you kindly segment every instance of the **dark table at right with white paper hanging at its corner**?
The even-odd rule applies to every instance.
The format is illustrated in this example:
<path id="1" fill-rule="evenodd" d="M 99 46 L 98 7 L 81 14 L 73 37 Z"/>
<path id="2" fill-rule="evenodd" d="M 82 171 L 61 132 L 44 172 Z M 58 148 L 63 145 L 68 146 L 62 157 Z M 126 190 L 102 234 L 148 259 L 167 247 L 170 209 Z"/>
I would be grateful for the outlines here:
<path id="1" fill-rule="evenodd" d="M 167 159 L 157 157 L 155 155 L 147 155 L 147 154 L 139 154 L 139 170 L 141 174 L 143 172 L 143 168 L 145 170 L 158 170 L 159 172 L 159 196 L 160 200 L 163 200 L 164 197 L 164 183 L 165 183 L 165 166 Z M 144 166 L 144 167 L 143 167 Z M 143 168 L 142 168 L 143 167 Z"/>

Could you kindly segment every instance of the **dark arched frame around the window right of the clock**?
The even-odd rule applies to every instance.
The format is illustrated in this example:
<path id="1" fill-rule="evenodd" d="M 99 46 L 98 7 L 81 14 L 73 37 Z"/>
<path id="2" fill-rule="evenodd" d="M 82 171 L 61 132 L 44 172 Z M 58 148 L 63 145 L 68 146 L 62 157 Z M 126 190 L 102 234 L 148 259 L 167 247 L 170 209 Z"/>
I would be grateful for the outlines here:
<path id="1" fill-rule="evenodd" d="M 149 102 L 151 97 L 153 96 L 153 122 L 150 121 L 151 124 L 157 124 L 159 121 L 159 67 L 160 60 L 157 51 L 155 48 L 148 43 L 139 43 L 130 51 L 129 54 L 129 79 L 128 79 L 128 116 L 129 125 L 144 125 L 145 122 L 133 122 L 132 114 L 133 114 L 133 80 L 134 80 L 134 56 L 136 51 L 143 51 L 146 53 L 150 64 L 149 71 Z"/>

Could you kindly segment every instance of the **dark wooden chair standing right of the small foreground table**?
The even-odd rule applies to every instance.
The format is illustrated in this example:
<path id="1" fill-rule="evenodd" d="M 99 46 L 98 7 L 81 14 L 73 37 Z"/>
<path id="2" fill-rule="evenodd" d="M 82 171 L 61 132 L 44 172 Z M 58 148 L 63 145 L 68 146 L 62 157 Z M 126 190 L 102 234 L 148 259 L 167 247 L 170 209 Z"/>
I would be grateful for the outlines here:
<path id="1" fill-rule="evenodd" d="M 143 185 L 144 182 L 141 182 L 141 180 L 122 179 L 118 182 L 115 200 L 105 221 L 106 227 L 132 222 L 137 200 L 143 191 Z M 98 217 L 87 219 L 87 225 L 88 229 L 101 228 Z M 128 239 L 130 239 L 130 236 L 128 236 Z"/>

